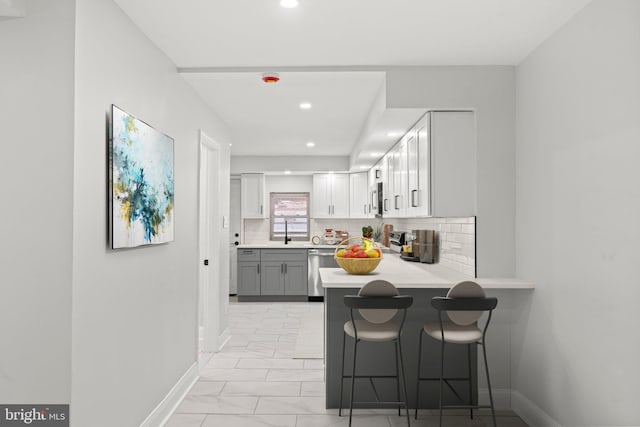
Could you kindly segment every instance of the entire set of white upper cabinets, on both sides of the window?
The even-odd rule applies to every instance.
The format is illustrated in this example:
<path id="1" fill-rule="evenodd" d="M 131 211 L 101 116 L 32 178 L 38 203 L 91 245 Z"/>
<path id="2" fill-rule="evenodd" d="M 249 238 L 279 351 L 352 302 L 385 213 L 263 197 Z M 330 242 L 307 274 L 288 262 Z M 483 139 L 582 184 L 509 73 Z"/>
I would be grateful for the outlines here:
<path id="1" fill-rule="evenodd" d="M 427 113 L 369 172 L 313 175 L 311 217 L 475 215 L 474 129 L 472 112 Z M 242 217 L 268 218 L 264 174 L 241 182 Z"/>

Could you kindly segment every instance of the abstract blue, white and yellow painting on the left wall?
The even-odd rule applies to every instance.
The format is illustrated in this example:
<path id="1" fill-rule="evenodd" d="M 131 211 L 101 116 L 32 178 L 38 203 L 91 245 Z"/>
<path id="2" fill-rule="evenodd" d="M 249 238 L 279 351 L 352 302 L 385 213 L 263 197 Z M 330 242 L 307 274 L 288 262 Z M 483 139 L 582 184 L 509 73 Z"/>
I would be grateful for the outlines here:
<path id="1" fill-rule="evenodd" d="M 173 241 L 173 139 L 111 108 L 111 247 Z"/>

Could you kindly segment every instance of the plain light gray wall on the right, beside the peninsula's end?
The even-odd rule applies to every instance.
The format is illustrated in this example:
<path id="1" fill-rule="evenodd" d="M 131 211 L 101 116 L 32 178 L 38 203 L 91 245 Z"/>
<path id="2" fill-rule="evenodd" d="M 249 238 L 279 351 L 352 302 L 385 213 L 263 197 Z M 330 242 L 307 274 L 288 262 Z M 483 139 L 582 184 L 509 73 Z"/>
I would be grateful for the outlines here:
<path id="1" fill-rule="evenodd" d="M 640 2 L 595 0 L 539 46 L 517 110 L 516 266 L 536 289 L 514 401 L 532 425 L 640 425 Z"/>

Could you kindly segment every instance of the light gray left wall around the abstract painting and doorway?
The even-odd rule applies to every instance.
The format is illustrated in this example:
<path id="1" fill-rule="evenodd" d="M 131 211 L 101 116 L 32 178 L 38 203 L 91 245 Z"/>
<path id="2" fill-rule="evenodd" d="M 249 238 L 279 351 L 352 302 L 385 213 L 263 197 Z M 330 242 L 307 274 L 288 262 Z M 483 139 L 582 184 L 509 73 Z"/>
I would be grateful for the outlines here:
<path id="1" fill-rule="evenodd" d="M 138 426 L 197 360 L 199 130 L 223 150 L 224 215 L 230 134 L 111 0 L 78 2 L 76 32 L 72 422 Z M 172 243 L 107 246 L 112 103 L 175 139 Z"/>

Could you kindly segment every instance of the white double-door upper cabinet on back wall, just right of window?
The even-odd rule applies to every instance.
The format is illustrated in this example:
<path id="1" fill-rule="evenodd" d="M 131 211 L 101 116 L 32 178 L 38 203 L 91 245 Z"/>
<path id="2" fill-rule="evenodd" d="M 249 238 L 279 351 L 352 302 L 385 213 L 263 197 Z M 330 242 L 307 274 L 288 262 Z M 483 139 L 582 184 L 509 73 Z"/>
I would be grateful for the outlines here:
<path id="1" fill-rule="evenodd" d="M 313 175 L 313 217 L 349 218 L 349 174 Z"/>

